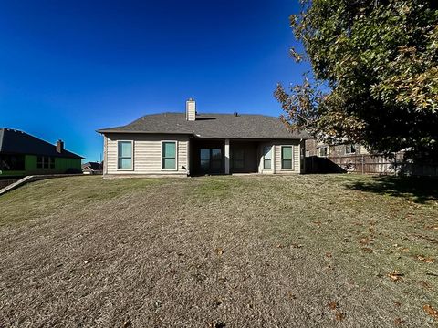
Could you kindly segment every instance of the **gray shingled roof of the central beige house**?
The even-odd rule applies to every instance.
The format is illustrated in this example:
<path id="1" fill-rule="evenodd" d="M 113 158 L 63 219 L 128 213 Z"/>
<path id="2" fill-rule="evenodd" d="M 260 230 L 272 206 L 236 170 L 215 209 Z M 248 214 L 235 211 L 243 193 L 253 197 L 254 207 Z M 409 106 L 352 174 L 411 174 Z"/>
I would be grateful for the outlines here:
<path id="1" fill-rule="evenodd" d="M 185 113 L 145 115 L 116 128 L 101 128 L 99 133 L 189 134 L 198 138 L 310 138 L 307 132 L 288 132 L 279 118 L 263 115 L 202 114 L 187 121 Z"/>

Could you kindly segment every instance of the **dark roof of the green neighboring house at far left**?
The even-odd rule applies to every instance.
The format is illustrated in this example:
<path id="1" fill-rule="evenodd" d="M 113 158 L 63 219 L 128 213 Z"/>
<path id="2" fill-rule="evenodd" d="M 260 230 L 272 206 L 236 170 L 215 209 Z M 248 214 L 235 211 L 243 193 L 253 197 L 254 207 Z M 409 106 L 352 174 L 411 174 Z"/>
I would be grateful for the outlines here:
<path id="1" fill-rule="evenodd" d="M 55 145 L 12 128 L 0 128 L 0 153 L 82 159 L 66 149 L 58 153 Z"/>

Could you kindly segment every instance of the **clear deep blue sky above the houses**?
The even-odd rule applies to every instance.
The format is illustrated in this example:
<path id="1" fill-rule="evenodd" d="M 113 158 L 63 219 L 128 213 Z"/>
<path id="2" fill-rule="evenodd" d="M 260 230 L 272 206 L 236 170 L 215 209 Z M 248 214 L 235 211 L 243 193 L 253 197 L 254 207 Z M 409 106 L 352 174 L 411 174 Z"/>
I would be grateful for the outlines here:
<path id="1" fill-rule="evenodd" d="M 281 114 L 277 82 L 308 69 L 288 56 L 297 1 L 0 0 L 0 128 L 99 160 L 95 132 L 145 114 Z"/>

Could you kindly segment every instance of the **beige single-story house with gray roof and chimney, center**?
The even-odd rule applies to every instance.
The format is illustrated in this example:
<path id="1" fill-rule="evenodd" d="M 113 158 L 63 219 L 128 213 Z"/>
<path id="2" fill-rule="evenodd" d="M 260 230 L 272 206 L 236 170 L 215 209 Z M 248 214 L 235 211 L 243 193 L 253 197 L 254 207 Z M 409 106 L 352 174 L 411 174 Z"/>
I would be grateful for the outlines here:
<path id="1" fill-rule="evenodd" d="M 287 131 L 279 118 L 185 113 L 146 115 L 102 128 L 104 175 L 294 174 L 304 171 L 307 133 Z"/>

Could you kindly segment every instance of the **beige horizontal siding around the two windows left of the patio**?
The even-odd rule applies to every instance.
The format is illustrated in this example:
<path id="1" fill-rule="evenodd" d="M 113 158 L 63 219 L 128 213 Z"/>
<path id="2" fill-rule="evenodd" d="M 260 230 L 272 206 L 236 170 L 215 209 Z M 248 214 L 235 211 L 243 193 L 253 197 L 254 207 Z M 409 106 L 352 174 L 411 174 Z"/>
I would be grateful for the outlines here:
<path id="1" fill-rule="evenodd" d="M 108 174 L 187 174 L 189 137 L 183 135 L 108 134 L 106 136 L 106 166 Z M 118 141 L 132 140 L 132 170 L 117 169 Z M 162 141 L 176 141 L 177 166 L 162 169 Z M 185 167 L 186 169 L 183 169 Z"/>

